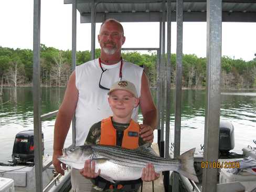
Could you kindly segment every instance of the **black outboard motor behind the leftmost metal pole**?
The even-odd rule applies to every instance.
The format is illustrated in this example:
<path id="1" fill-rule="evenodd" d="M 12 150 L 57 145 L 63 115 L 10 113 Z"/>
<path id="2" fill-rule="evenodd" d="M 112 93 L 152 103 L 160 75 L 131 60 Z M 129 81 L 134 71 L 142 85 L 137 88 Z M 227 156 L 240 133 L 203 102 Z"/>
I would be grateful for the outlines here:
<path id="1" fill-rule="evenodd" d="M 42 154 L 44 155 L 44 133 L 42 133 Z M 19 132 L 13 145 L 13 163 L 34 163 L 34 130 Z"/>

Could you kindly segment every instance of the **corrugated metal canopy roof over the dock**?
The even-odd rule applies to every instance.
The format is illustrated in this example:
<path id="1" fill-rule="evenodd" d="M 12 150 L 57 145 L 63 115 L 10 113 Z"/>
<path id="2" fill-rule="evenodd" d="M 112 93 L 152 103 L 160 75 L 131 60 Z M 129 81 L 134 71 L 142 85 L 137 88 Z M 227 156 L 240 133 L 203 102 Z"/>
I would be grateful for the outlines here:
<path id="1" fill-rule="evenodd" d="M 72 0 L 64 0 L 71 4 Z M 91 23 L 92 0 L 77 0 L 81 23 Z M 115 18 L 120 22 L 159 22 L 163 1 L 159 0 L 94 0 L 95 22 Z M 176 0 L 172 2 L 172 21 L 176 21 Z M 206 22 L 206 0 L 184 0 L 184 22 Z M 167 7 L 167 1 L 165 11 Z M 222 22 L 256 22 L 256 0 L 223 0 Z"/>

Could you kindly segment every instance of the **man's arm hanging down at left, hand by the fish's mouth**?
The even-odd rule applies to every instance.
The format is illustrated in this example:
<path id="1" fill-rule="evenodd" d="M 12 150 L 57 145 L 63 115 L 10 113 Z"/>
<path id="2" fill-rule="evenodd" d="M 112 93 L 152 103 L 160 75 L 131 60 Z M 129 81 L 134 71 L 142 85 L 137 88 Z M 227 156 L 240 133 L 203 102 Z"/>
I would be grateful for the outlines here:
<path id="1" fill-rule="evenodd" d="M 66 165 L 62 164 L 62 169 L 60 166 L 61 163 L 57 157 L 62 155 L 62 148 L 68 134 L 73 114 L 76 110 L 77 101 L 78 90 L 76 88 L 76 73 L 73 71 L 69 78 L 67 89 L 62 104 L 60 105 L 54 127 L 54 154 L 52 156 L 52 163 L 54 164 L 57 172 L 62 175 L 64 174 L 63 169 L 66 169 Z"/>

